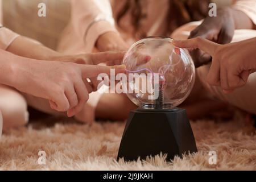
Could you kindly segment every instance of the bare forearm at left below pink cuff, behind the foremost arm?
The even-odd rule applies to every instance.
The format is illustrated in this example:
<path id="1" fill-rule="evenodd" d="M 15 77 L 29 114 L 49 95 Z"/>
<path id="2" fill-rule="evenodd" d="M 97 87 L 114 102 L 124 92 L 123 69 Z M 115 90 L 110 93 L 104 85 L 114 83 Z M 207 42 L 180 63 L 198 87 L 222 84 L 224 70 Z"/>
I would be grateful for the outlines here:
<path id="1" fill-rule="evenodd" d="M 43 46 L 43 44 L 24 36 L 16 38 L 6 51 L 14 53 L 15 55 L 37 60 L 52 60 L 54 57 L 61 55 L 61 53 L 53 51 L 52 49 Z"/>

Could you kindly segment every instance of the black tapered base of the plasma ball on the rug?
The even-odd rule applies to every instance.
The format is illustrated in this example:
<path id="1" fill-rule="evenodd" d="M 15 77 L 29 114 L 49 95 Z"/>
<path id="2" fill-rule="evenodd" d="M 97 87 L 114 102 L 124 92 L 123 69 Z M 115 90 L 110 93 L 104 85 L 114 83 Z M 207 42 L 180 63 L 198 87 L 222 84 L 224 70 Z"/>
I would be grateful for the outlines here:
<path id="1" fill-rule="evenodd" d="M 167 160 L 197 152 L 195 138 L 184 109 L 134 110 L 123 131 L 117 160 L 146 159 L 167 154 Z"/>

